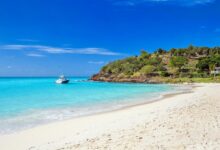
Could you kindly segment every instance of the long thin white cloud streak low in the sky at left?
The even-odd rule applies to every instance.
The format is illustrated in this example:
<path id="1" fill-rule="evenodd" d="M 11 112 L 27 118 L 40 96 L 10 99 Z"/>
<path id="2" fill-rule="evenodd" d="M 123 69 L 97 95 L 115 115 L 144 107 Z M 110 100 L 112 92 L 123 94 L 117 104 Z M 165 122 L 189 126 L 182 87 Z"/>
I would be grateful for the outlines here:
<path id="1" fill-rule="evenodd" d="M 44 45 L 3 45 L 4 50 L 35 50 L 50 54 L 120 55 L 104 48 L 61 48 Z"/>

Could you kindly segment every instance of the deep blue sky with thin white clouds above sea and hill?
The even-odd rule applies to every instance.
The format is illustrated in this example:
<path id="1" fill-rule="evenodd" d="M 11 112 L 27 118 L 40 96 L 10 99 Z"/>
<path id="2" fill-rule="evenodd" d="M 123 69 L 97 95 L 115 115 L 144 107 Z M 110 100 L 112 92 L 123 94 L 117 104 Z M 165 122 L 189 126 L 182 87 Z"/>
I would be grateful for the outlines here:
<path id="1" fill-rule="evenodd" d="M 141 49 L 220 45 L 217 0 L 0 0 L 0 76 L 88 76 Z"/>

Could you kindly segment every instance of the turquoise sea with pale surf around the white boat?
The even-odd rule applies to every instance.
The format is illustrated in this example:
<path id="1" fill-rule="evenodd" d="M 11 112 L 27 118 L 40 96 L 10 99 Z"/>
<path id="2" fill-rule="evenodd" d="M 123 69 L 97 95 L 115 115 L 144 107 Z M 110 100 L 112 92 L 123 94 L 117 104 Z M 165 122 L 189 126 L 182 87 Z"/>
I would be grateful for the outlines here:
<path id="1" fill-rule="evenodd" d="M 57 120 L 119 109 L 182 90 L 165 84 L 92 82 L 70 78 L 0 78 L 0 134 Z"/>

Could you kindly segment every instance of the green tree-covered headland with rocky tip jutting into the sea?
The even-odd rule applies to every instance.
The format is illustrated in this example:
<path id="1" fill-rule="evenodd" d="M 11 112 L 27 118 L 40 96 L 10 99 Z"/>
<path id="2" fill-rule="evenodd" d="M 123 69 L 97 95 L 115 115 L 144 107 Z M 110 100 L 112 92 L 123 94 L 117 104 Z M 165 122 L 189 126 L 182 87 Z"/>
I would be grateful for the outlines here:
<path id="1" fill-rule="evenodd" d="M 220 82 L 220 47 L 159 48 L 153 53 L 141 50 L 132 56 L 110 62 L 94 81 L 183 83 Z"/>

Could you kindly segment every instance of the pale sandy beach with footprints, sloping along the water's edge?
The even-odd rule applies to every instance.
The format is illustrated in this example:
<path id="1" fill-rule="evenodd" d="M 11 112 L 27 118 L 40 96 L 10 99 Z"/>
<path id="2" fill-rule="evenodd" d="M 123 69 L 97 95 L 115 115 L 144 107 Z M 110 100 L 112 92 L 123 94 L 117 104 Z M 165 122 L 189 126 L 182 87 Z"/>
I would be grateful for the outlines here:
<path id="1" fill-rule="evenodd" d="M 220 149 L 220 84 L 0 136 L 2 150 Z"/>

